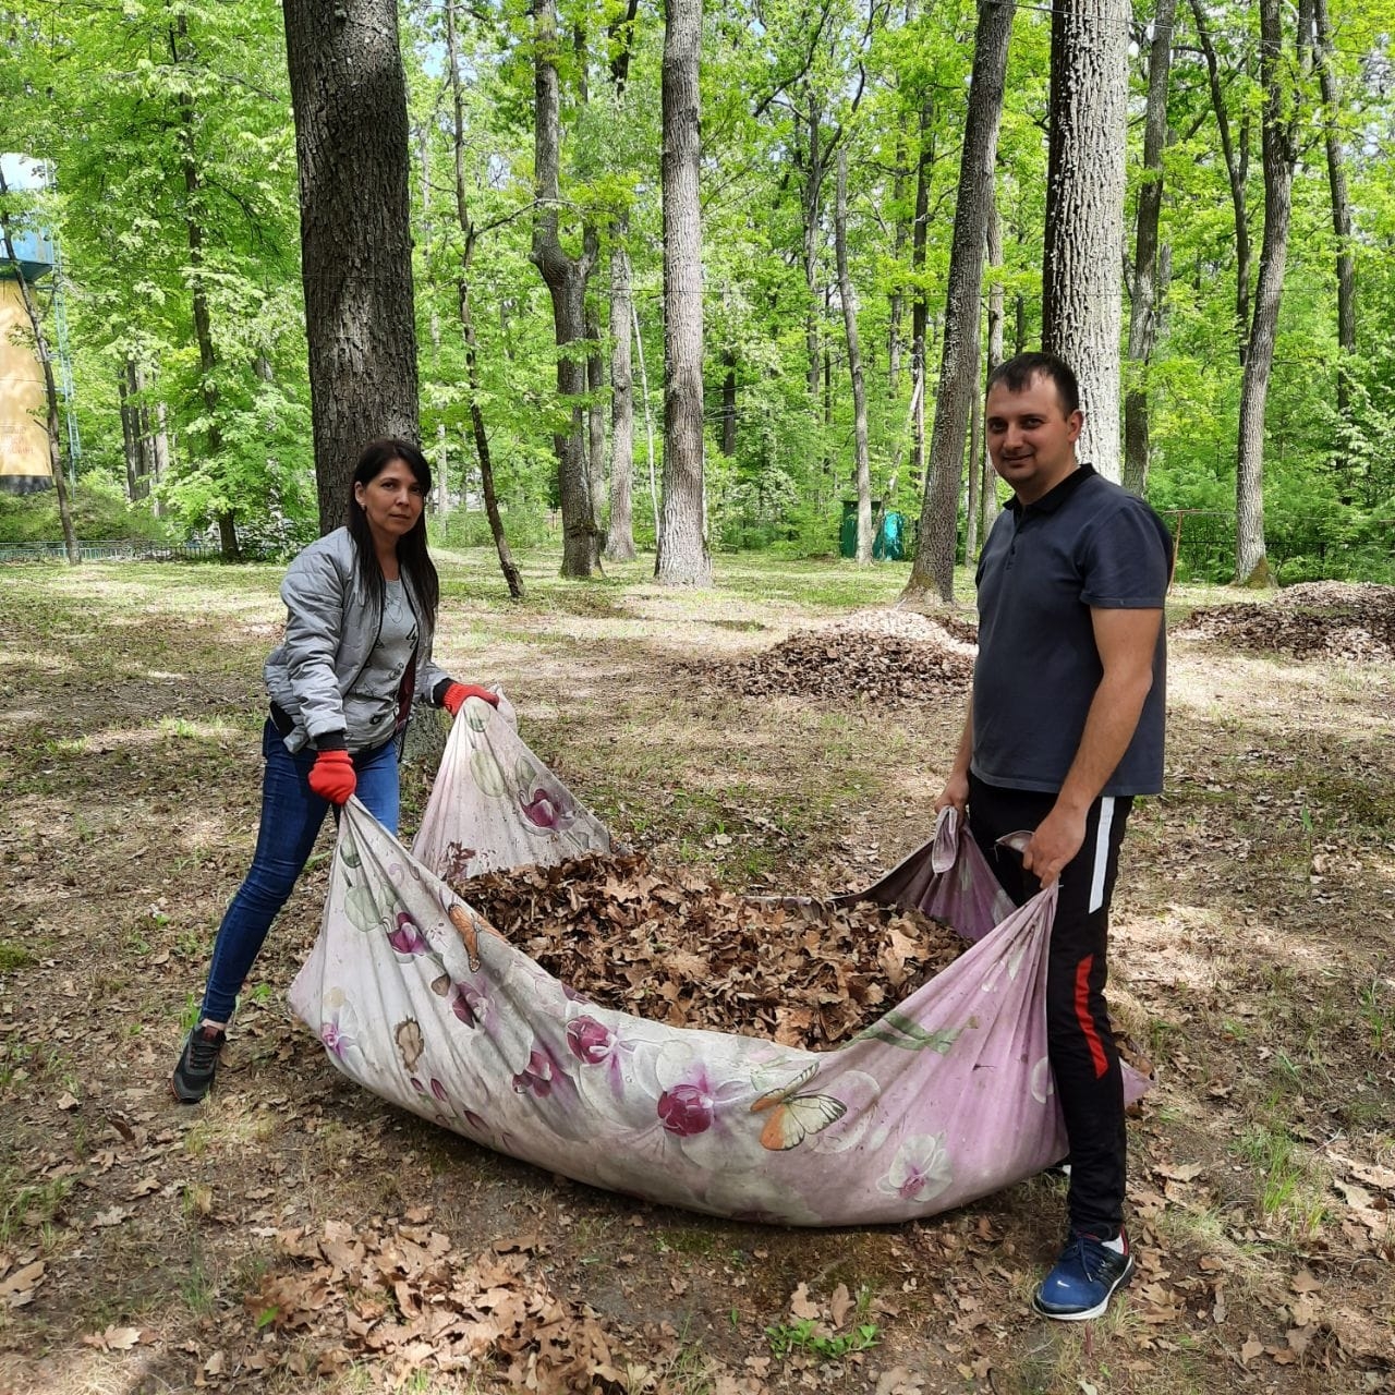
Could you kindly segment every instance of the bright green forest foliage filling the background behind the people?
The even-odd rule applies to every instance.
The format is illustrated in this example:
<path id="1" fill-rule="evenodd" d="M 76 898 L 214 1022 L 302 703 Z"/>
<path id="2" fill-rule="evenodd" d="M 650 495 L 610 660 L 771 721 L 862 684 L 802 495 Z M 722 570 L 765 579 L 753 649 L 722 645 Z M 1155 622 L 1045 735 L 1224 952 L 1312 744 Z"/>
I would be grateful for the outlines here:
<path id="1" fill-rule="evenodd" d="M 698 11 L 700 508 L 713 551 L 837 550 L 862 438 L 854 367 L 866 492 L 877 518 L 898 512 L 914 531 L 970 73 L 990 8 L 734 0 Z M 1246 360 L 1274 268 L 1275 162 L 1286 160 L 1286 264 L 1258 425 L 1268 566 L 1283 582 L 1389 580 L 1395 13 L 1304 0 L 1274 31 L 1265 14 L 1276 8 L 1101 8 L 1127 53 L 1117 371 L 1123 399 L 1145 413 L 1136 449 L 1120 407 L 1120 458 L 1134 452 L 1124 483 L 1180 526 L 1184 573 L 1235 575 Z M 153 508 L 169 537 L 213 537 L 225 555 L 306 541 L 319 520 L 304 191 L 280 8 L 21 0 L 0 18 L 3 145 L 47 173 L 46 188 L 11 190 L 4 208 L 15 230 L 46 229 L 59 252 L 33 290 L 64 368 L 63 462 L 77 497 L 120 491 L 146 518 Z M 619 498 L 631 541 L 654 545 L 671 386 L 665 18 L 649 0 L 561 0 L 544 53 L 534 7 L 516 0 L 399 7 L 420 437 L 438 473 L 432 526 L 453 543 L 490 538 L 484 449 L 509 540 L 559 548 L 557 438 L 576 428 L 597 547 L 624 555 L 625 540 L 607 533 Z M 976 296 L 979 384 L 995 314 L 997 353 L 1042 340 L 1052 21 L 1050 6 L 1028 4 L 1011 21 Z M 544 64 L 558 116 L 547 198 Z M 555 212 L 557 248 L 583 280 L 582 328 L 566 343 L 540 273 L 540 206 Z M 982 536 L 976 491 L 992 487 L 976 430 L 965 444 L 960 559 Z M 0 511 L 4 538 L 33 536 L 18 512 Z M 112 523 L 110 509 L 86 516 Z"/>

